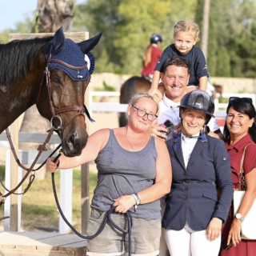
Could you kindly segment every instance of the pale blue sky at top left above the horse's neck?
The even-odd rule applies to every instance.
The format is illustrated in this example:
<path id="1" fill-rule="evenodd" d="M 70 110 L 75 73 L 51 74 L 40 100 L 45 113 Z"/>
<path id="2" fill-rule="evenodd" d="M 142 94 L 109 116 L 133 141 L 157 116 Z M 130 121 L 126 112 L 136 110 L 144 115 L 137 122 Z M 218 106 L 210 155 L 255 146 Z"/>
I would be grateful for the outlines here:
<path id="1" fill-rule="evenodd" d="M 85 0 L 76 0 L 82 3 Z M 33 17 L 38 0 L 0 0 L 0 32 L 14 29 L 16 22 L 22 22 L 26 16 Z"/>

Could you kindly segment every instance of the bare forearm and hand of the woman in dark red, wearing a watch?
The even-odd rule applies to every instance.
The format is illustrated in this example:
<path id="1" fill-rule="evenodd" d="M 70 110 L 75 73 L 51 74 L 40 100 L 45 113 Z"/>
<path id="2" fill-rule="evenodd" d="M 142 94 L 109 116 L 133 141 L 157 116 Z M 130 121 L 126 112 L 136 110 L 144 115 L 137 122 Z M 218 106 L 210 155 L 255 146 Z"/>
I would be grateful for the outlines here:
<path id="1" fill-rule="evenodd" d="M 242 218 L 246 218 L 246 215 L 249 213 L 251 206 L 254 204 L 256 198 L 256 168 L 250 171 L 249 174 L 246 174 L 246 193 L 242 198 L 241 205 L 238 209 L 238 214 L 242 215 Z M 241 232 L 242 221 L 238 218 L 234 218 L 231 227 L 230 233 L 227 239 L 227 244 L 230 244 L 230 240 L 234 246 L 236 246 L 239 241 L 241 241 L 240 232 Z"/>

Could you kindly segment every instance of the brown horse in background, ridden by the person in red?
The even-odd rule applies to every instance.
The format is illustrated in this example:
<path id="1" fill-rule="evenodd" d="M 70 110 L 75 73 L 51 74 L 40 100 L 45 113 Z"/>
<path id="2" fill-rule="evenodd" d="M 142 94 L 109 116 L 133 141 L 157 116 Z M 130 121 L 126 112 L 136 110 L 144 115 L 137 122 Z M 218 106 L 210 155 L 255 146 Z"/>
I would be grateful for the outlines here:
<path id="1" fill-rule="evenodd" d="M 132 77 L 122 84 L 120 90 L 120 103 L 128 104 L 134 94 L 145 93 L 150 90 L 151 82 L 143 77 Z M 119 113 L 119 127 L 126 126 L 126 113 Z"/>

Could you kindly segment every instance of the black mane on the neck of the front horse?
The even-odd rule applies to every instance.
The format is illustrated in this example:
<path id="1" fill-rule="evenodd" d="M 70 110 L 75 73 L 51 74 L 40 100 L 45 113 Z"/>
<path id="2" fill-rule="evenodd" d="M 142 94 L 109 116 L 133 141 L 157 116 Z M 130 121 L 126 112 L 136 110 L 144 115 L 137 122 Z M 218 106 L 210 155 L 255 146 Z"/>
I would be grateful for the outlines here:
<path id="1" fill-rule="evenodd" d="M 0 44 L 0 84 L 9 85 L 26 77 L 38 50 L 53 37 L 14 40 Z"/>

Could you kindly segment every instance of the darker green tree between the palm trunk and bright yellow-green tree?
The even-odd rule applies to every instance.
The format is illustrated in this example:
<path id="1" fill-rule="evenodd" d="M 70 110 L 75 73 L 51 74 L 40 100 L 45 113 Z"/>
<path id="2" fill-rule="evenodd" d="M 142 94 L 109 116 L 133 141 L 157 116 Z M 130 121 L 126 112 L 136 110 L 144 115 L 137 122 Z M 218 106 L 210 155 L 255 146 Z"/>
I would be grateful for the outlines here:
<path id="1" fill-rule="evenodd" d="M 122 22 L 118 13 L 121 2 L 122 0 L 88 0 L 74 8 L 74 31 L 89 31 L 90 38 L 102 32 L 101 41 L 93 52 L 96 59 L 95 72 L 114 72 L 118 66 L 119 57 L 114 40 L 118 37 L 116 26 Z"/>

